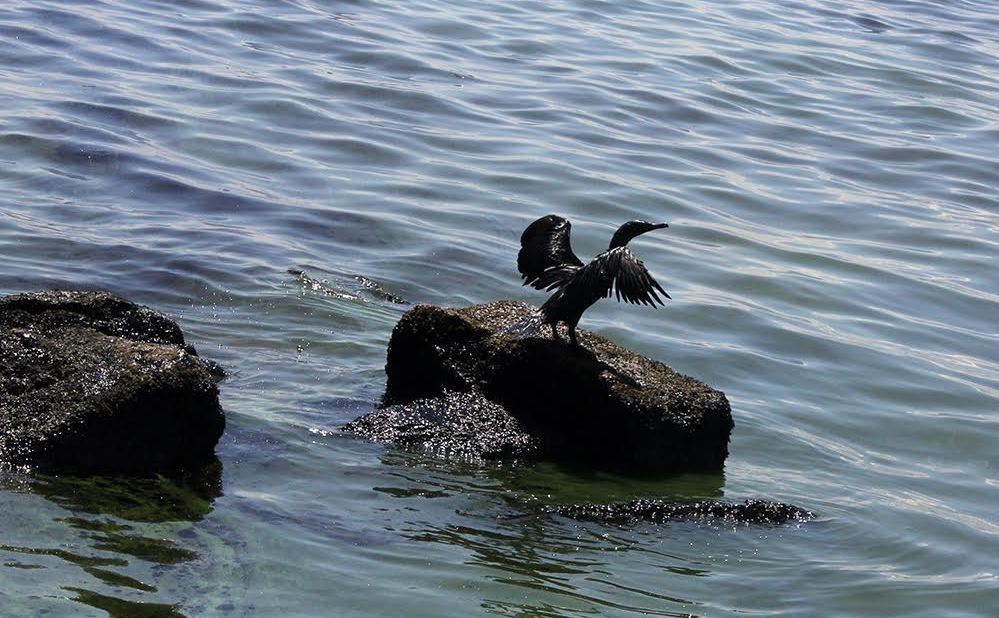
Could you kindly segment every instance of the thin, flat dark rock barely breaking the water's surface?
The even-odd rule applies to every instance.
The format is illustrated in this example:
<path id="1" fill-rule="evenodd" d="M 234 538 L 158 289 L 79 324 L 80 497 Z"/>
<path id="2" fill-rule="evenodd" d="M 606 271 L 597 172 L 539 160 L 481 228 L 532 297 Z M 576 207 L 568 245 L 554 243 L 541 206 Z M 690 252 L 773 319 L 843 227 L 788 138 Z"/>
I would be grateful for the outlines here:
<path id="1" fill-rule="evenodd" d="M 784 524 L 808 521 L 815 515 L 805 509 L 783 502 L 746 500 L 745 502 L 665 502 L 663 500 L 633 500 L 613 504 L 569 504 L 546 506 L 546 513 L 571 519 L 605 523 L 648 521 L 708 520 L 744 524 Z"/>

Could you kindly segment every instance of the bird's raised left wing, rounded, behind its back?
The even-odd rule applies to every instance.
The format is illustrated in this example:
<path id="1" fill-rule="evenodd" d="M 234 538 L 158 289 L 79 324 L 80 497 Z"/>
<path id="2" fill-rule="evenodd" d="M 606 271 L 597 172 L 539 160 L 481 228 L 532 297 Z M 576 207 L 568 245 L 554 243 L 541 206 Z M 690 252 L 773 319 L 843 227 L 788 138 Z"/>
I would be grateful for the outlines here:
<path id="1" fill-rule="evenodd" d="M 559 287 L 583 265 L 572 252 L 569 232 L 572 224 L 558 215 L 541 217 L 520 236 L 517 269 L 524 285 L 539 290 Z"/>

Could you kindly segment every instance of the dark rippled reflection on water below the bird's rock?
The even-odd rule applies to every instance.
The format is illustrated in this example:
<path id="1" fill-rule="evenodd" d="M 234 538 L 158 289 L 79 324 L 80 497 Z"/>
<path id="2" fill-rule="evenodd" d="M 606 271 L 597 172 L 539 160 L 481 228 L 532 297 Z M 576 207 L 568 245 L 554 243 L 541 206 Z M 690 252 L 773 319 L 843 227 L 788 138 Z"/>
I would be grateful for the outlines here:
<path id="1" fill-rule="evenodd" d="M 578 616 L 614 612 L 693 616 L 698 603 L 668 589 L 642 587 L 620 577 L 625 554 L 647 572 L 705 577 L 711 571 L 683 553 L 643 542 L 648 534 L 698 536 L 698 524 L 607 526 L 540 512 L 548 504 L 609 502 L 639 497 L 689 501 L 723 495 L 722 473 L 632 477 L 550 462 L 531 464 L 445 462 L 422 453 L 389 449 L 380 457 L 394 486 L 375 491 L 428 510 L 426 500 L 456 505 L 455 518 L 413 519 L 400 527 L 412 541 L 444 545 L 465 555 L 463 564 L 501 588 L 522 591 L 520 600 L 490 598 L 480 607 L 501 616 Z M 471 501 L 471 504 L 463 504 Z M 488 505 L 485 510 L 483 505 Z M 627 561 L 626 561 L 627 562 Z M 513 596 L 517 596 L 513 594 Z"/>

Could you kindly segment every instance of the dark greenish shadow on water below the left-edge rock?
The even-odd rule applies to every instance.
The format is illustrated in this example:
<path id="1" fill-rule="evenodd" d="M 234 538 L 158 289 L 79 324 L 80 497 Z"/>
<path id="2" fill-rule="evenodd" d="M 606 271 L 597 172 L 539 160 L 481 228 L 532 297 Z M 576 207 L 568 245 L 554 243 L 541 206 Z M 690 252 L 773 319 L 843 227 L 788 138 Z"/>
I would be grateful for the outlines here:
<path id="1" fill-rule="evenodd" d="M 122 573 L 132 566 L 164 569 L 197 560 L 199 555 L 183 546 L 182 539 L 193 534 L 180 529 L 178 540 L 150 536 L 146 531 L 156 527 L 158 535 L 169 524 L 195 523 L 212 512 L 213 503 L 222 494 L 222 463 L 216 459 L 208 465 L 173 476 L 109 477 L 69 475 L 37 475 L 0 479 L 0 489 L 32 493 L 58 505 L 66 515 L 54 521 L 74 531 L 80 538 L 65 548 L 0 545 L 0 551 L 19 554 L 23 558 L 8 561 L 4 567 L 45 569 L 46 561 L 56 558 L 79 567 L 109 590 L 156 593 L 157 588 L 136 577 Z M 133 564 L 134 562 L 134 564 Z M 113 618 L 177 618 L 183 614 L 179 604 L 135 601 L 90 590 L 64 585 L 73 593 L 73 601 L 103 610 Z"/>

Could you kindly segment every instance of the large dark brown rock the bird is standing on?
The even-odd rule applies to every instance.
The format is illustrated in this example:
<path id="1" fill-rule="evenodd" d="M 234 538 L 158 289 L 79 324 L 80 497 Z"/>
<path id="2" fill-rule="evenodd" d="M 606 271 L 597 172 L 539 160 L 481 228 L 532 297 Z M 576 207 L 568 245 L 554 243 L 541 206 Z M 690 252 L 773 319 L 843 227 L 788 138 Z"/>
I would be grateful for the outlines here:
<path id="1" fill-rule="evenodd" d="M 586 331 L 583 348 L 506 334 L 535 311 L 514 301 L 414 307 L 392 332 L 382 404 L 425 409 L 474 392 L 516 419 L 545 458 L 638 472 L 724 464 L 733 423 L 723 393 Z M 461 435 L 489 430 L 470 430 L 476 420 Z"/>

